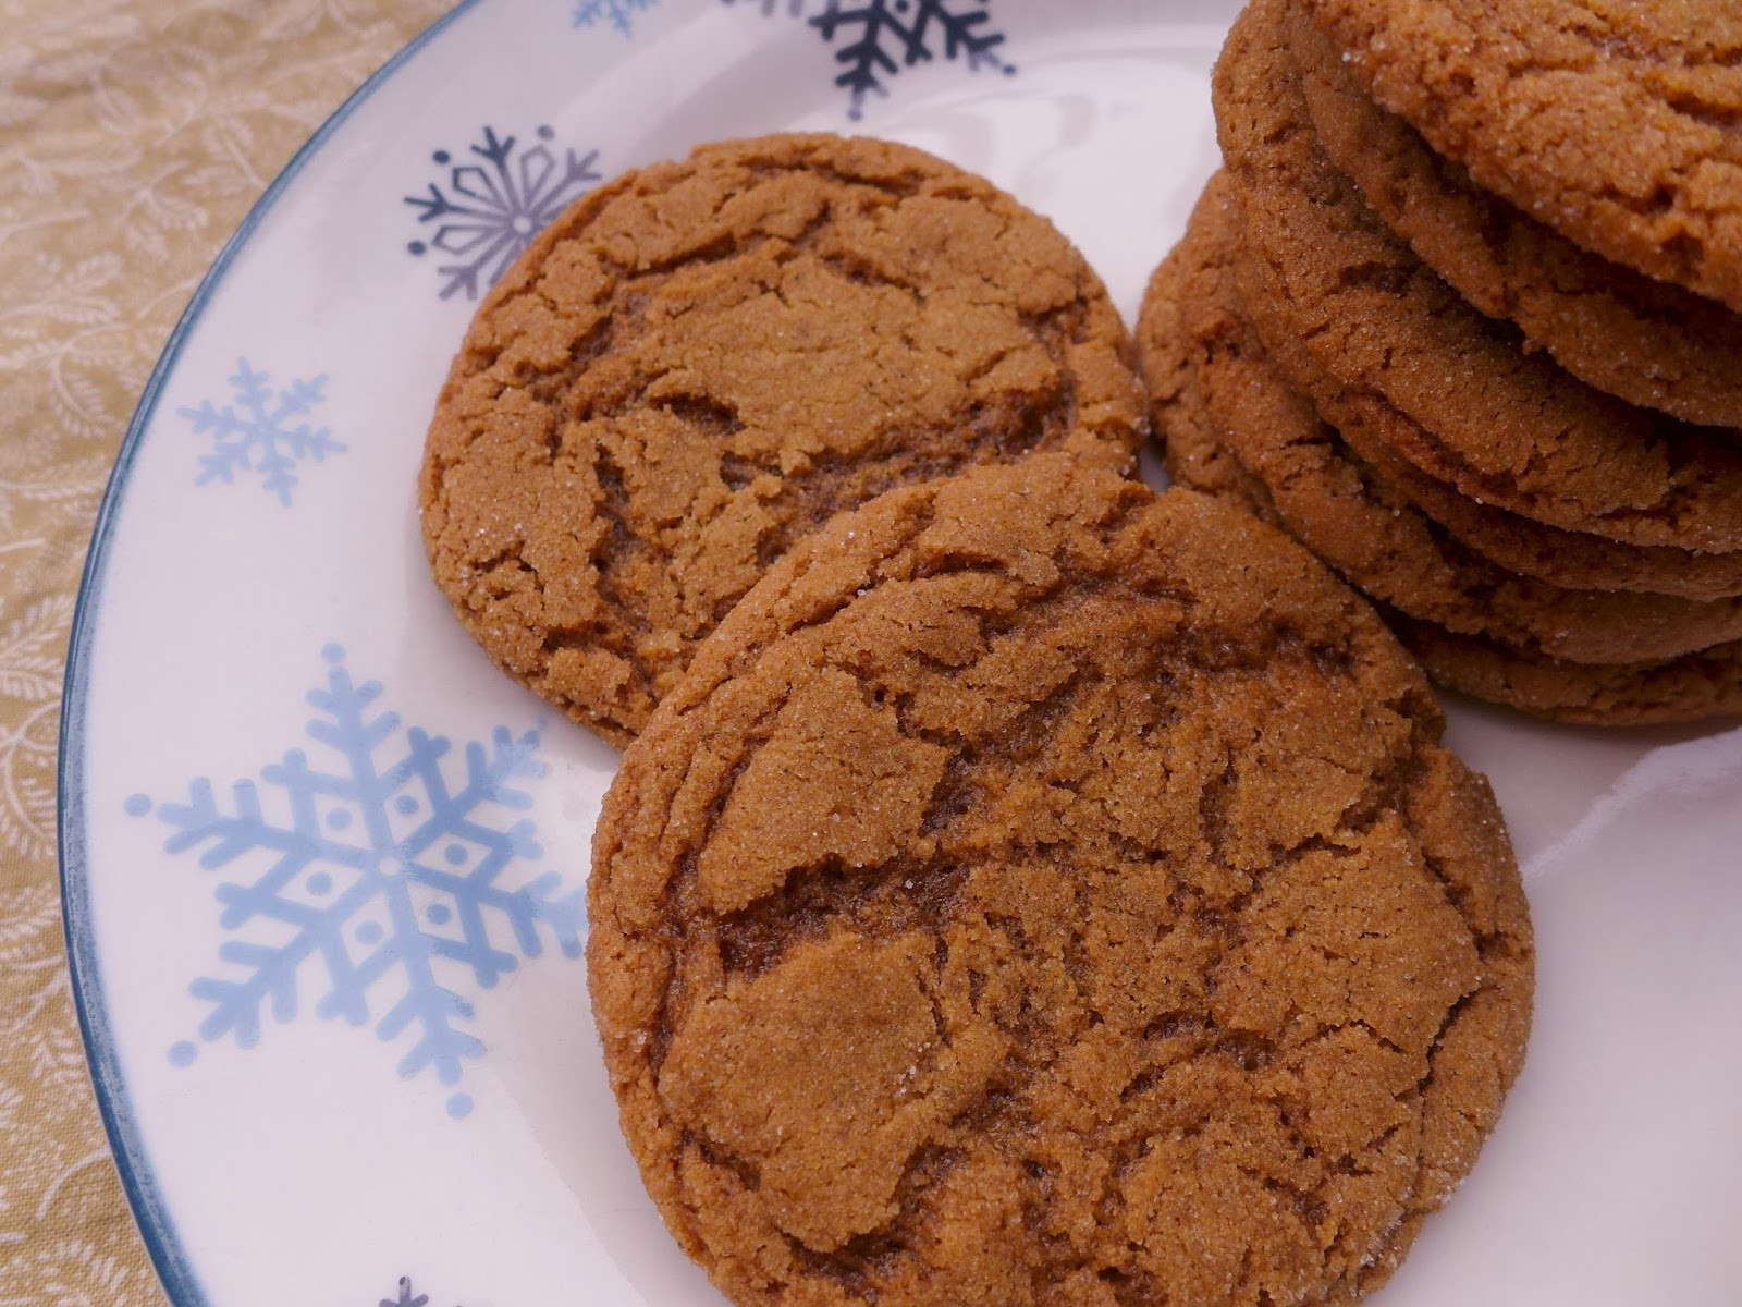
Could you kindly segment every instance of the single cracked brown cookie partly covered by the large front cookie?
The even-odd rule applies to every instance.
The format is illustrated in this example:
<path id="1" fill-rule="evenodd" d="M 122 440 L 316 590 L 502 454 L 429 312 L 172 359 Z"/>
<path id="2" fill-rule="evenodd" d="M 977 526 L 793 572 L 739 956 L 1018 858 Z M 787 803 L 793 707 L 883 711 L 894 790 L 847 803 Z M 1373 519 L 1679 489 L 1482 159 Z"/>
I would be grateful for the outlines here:
<path id="1" fill-rule="evenodd" d="M 908 146 L 702 146 L 571 206 L 477 310 L 423 462 L 437 584 L 627 742 L 793 540 L 1031 450 L 1125 465 L 1117 310 L 1043 218 Z"/>

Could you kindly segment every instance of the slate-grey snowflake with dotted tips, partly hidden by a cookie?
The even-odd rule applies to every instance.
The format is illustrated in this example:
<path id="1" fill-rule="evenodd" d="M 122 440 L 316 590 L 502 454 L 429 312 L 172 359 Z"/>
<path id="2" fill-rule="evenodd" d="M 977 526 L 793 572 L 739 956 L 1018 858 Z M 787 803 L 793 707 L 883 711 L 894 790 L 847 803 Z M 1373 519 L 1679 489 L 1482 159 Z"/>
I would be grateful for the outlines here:
<path id="1" fill-rule="evenodd" d="M 653 3 L 655 0 L 645 0 Z M 465 291 L 469 300 L 507 272 L 531 239 L 603 176 L 594 169 L 598 150 L 564 150 L 559 160 L 550 146 L 556 132 L 538 127 L 538 145 L 519 150 L 514 136 L 483 129 L 483 141 L 467 146 L 477 162 L 455 162 L 448 150 L 430 159 L 448 169 L 446 185 L 432 181 L 427 195 L 406 195 L 418 211 L 418 225 L 434 223 L 434 234 L 411 240 L 406 249 L 423 256 L 430 249 L 455 261 L 439 265 L 441 298 Z"/>

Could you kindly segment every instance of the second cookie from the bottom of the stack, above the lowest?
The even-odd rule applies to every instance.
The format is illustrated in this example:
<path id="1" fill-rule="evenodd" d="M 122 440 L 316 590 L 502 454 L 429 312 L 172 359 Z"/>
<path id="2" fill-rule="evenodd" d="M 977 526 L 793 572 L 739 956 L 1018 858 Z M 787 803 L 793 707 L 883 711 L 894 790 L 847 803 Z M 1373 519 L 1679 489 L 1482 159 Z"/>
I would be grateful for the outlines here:
<path id="1" fill-rule="evenodd" d="M 1228 472 L 1221 479 L 1230 493 L 1244 491 L 1259 516 L 1409 617 L 1552 657 L 1636 662 L 1742 640 L 1742 599 L 1545 586 L 1460 545 L 1408 497 L 1380 484 L 1256 340 L 1240 303 L 1239 256 L 1239 214 L 1218 174 L 1171 256 L 1181 272 L 1160 289 L 1178 296 L 1178 352 L 1195 371 L 1212 429 L 1263 495 Z M 1144 307 L 1153 315 L 1139 322 L 1146 345 L 1169 314 L 1157 300 Z M 1167 430 L 1183 425 L 1185 413 Z"/>

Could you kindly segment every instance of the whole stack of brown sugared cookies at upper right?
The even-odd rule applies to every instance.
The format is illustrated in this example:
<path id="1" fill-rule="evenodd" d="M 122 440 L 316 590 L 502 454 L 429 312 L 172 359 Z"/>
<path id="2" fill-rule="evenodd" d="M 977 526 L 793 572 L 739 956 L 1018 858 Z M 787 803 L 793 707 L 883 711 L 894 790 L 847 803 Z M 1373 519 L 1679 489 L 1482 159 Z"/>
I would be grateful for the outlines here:
<path id="1" fill-rule="evenodd" d="M 1139 336 L 1174 477 L 1441 683 L 1691 720 L 1742 709 L 1742 19 L 1604 14 L 1254 0 Z"/>

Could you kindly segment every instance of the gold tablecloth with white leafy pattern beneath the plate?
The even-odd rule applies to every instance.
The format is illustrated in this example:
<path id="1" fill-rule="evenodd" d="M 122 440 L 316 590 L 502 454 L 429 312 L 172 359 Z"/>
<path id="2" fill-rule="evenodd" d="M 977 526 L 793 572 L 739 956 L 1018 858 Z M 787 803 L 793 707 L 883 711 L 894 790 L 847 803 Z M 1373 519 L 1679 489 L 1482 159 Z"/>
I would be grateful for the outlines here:
<path id="1" fill-rule="evenodd" d="M 0 1307 L 164 1302 L 61 943 L 61 669 L 110 462 L 296 146 L 451 0 L 0 0 Z"/>

